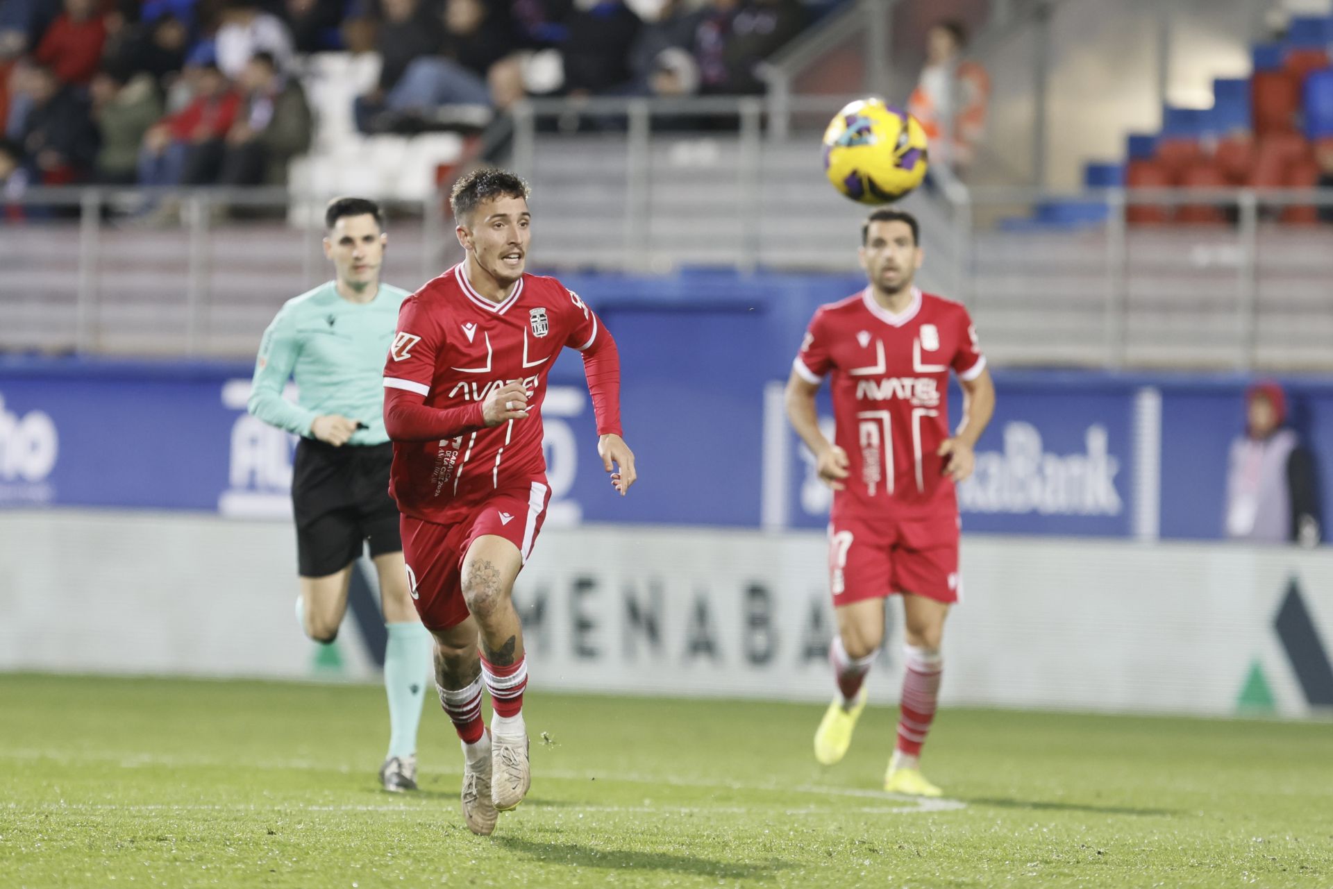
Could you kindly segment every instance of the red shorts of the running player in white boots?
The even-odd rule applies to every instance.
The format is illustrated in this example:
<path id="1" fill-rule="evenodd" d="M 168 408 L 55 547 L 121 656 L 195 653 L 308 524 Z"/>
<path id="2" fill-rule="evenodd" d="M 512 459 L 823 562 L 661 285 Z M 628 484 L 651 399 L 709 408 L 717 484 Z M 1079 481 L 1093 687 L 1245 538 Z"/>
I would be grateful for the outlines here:
<path id="1" fill-rule="evenodd" d="M 463 560 L 477 537 L 504 537 L 528 561 L 547 518 L 551 489 L 532 482 L 531 490 L 497 490 L 481 502 L 460 505 L 448 524 L 403 516 L 403 558 L 408 565 L 412 604 L 427 629 L 449 629 L 468 620 L 463 598 Z M 453 518 L 453 516 L 451 516 Z"/>

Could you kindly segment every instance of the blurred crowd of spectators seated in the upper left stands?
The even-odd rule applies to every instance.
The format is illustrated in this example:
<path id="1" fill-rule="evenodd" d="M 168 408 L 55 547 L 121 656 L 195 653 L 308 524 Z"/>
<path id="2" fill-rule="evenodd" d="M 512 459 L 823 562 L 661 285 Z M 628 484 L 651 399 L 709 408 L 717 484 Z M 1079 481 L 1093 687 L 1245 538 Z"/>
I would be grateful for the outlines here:
<path id="1" fill-rule="evenodd" d="M 0 0 L 0 181 L 281 184 L 309 53 L 379 53 L 363 132 L 525 95 L 744 95 L 800 0 Z M 472 116 L 469 120 L 479 120 Z"/>

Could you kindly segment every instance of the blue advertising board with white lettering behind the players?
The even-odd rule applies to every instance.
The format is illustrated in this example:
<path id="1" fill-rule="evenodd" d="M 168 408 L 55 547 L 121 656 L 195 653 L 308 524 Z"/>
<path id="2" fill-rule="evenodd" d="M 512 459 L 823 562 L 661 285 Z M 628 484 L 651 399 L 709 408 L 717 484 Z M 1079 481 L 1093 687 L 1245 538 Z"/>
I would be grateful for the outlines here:
<path id="1" fill-rule="evenodd" d="M 816 304 L 856 279 L 565 277 L 620 344 L 640 481 L 619 497 L 596 456 L 577 353 L 544 412 L 549 521 L 822 528 L 829 494 L 781 413 Z M 295 440 L 245 413 L 245 363 L 0 359 L 0 506 L 289 512 Z M 996 371 L 998 404 L 960 488 L 988 533 L 1216 538 L 1238 376 Z M 1333 466 L 1333 380 L 1285 381 L 1293 420 Z M 957 417 L 954 387 L 950 409 Z M 828 405 L 822 411 L 828 421 Z M 1322 489 L 1333 514 L 1333 485 Z"/>

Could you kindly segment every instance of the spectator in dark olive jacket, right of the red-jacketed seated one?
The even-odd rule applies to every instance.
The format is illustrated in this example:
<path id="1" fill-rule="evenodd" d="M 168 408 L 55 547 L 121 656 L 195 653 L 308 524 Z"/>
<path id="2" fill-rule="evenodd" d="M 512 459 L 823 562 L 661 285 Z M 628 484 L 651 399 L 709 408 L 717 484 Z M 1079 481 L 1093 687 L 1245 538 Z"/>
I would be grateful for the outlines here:
<path id="1" fill-rule="evenodd" d="M 281 185 L 287 165 L 311 147 L 313 121 L 305 91 L 277 69 L 273 56 L 255 53 L 241 71 L 245 95 L 227 133 L 220 185 Z"/>

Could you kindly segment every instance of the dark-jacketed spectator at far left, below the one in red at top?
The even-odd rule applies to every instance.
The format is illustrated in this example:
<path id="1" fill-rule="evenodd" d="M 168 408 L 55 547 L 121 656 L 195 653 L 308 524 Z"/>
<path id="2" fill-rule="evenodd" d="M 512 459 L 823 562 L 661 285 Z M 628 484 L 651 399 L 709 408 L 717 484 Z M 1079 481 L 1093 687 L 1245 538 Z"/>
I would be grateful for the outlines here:
<path id="1" fill-rule="evenodd" d="M 29 109 L 19 143 L 33 180 L 68 185 L 87 179 L 97 153 L 88 103 L 45 65 L 33 65 L 24 83 Z"/>

